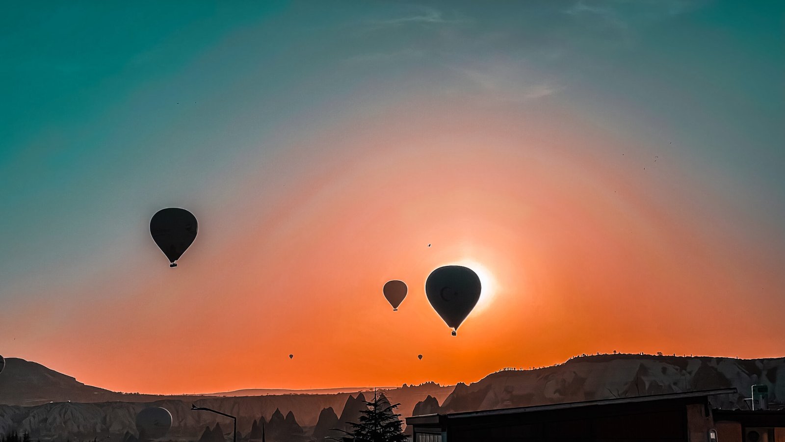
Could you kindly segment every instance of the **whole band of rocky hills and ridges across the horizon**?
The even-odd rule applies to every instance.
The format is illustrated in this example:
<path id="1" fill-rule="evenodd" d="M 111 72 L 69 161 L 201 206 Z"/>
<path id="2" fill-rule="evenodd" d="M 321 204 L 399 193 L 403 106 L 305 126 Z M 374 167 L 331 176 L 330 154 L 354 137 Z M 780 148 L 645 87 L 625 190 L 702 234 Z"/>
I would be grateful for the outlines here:
<path id="1" fill-rule="evenodd" d="M 33 393 L 0 390 L 5 398 L 46 400 L 60 396 L 86 397 L 89 403 L 55 402 L 22 407 L 0 405 L 0 433 L 29 431 L 34 439 L 93 440 L 133 442 L 137 437 L 136 415 L 144 407 L 165 407 L 173 415 L 170 440 L 217 440 L 228 431 L 231 421 L 211 413 L 191 411 L 191 404 L 226 411 L 238 417 L 239 433 L 258 437 L 265 428 L 268 442 L 279 440 L 315 440 L 331 434 L 331 429 L 356 419 L 373 392 L 335 394 L 284 394 L 279 396 L 146 396 L 109 392 L 84 385 L 75 378 L 51 371 L 37 363 L 12 360 L 16 366 L 6 376 L 0 375 L 0 388 L 20 380 L 32 385 Z M 20 373 L 28 367 L 30 373 Z M 41 385 L 36 385 L 40 382 Z M 487 375 L 469 385 L 442 386 L 433 382 L 403 385 L 396 389 L 377 389 L 384 393 L 404 416 L 473 411 L 506 407 L 524 407 L 623 396 L 677 393 L 699 389 L 734 387 L 738 394 L 711 398 L 715 407 L 744 408 L 743 398 L 751 385 L 769 385 L 769 404 L 785 402 L 785 358 L 739 360 L 706 356 L 650 356 L 614 354 L 581 356 L 565 363 L 534 370 L 506 370 Z M 25 394 L 27 394 L 25 396 Z M 70 396 L 69 396 L 70 395 Z M 96 397 L 111 396 L 98 402 Z M 119 399 L 117 399 L 119 398 Z M 150 399 L 157 398 L 157 399 Z M 92 399 L 92 400 L 91 400 Z M 145 400 L 146 399 L 146 400 Z M 275 423 L 273 423 L 275 422 Z M 221 426 L 217 426 L 220 423 Z M 275 431 L 273 428 L 277 427 Z M 220 431 L 216 431 L 216 428 Z M 246 437 L 247 439 L 247 437 Z"/>

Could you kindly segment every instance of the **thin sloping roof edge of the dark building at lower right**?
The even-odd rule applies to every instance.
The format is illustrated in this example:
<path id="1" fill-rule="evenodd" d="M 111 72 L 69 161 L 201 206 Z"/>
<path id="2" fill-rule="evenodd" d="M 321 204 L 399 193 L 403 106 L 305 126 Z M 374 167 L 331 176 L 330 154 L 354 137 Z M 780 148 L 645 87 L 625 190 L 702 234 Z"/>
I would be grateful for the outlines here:
<path id="1" fill-rule="evenodd" d="M 633 397 L 619 397 L 614 399 L 602 400 L 584 400 L 581 402 L 567 402 L 563 404 L 549 404 L 549 405 L 535 405 L 531 407 L 514 407 L 514 408 L 499 408 L 495 410 L 481 410 L 481 411 L 464 411 L 460 413 L 448 413 L 445 415 L 420 415 L 406 418 L 407 425 L 416 424 L 429 424 L 440 421 L 440 418 L 448 419 L 461 419 L 461 418 L 476 418 L 481 416 L 498 416 L 498 415 L 514 415 L 520 413 L 532 413 L 537 411 L 552 411 L 567 408 L 578 407 L 593 407 L 599 405 L 612 405 L 612 404 L 633 404 L 638 402 L 651 402 L 655 400 L 681 400 L 696 397 L 718 396 L 723 394 L 736 394 L 738 393 L 735 388 L 730 389 L 710 389 L 699 390 L 686 393 L 666 393 L 655 394 L 650 396 L 633 396 Z"/>

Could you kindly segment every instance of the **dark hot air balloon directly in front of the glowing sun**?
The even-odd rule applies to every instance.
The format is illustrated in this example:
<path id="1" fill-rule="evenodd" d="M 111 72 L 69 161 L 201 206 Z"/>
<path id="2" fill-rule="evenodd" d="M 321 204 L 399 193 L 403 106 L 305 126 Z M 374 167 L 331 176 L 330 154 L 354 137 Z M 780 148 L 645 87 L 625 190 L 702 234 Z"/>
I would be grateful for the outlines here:
<path id="1" fill-rule="evenodd" d="M 447 326 L 452 328 L 453 336 L 477 301 L 480 301 L 480 290 L 480 276 L 462 265 L 436 268 L 425 280 L 428 301 Z"/>

